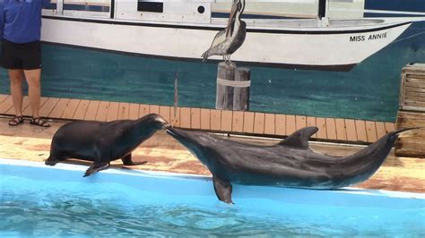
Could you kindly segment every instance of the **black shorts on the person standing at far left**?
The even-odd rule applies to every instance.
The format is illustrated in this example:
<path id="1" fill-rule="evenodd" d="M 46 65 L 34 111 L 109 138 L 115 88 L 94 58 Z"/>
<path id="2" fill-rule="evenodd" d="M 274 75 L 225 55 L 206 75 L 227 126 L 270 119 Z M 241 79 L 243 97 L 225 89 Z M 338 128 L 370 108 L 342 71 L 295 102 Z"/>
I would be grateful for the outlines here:
<path id="1" fill-rule="evenodd" d="M 39 40 L 16 44 L 2 41 L 2 66 L 9 70 L 36 70 L 41 68 L 41 43 Z"/>

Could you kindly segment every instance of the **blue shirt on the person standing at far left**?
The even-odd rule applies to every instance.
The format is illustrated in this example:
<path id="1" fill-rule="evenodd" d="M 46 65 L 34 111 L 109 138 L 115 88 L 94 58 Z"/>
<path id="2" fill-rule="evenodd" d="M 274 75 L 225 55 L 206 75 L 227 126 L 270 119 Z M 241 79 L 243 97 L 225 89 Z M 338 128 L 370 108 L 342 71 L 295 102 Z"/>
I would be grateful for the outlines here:
<path id="1" fill-rule="evenodd" d="M 0 37 L 13 43 L 40 39 L 41 9 L 50 0 L 0 0 Z"/>

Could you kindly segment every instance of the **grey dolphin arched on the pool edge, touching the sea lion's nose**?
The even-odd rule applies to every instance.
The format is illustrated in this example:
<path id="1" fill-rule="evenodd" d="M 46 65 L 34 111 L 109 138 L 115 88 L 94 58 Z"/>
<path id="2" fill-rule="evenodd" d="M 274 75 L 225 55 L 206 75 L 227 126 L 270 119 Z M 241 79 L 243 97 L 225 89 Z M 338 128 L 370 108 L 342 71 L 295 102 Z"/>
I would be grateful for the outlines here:
<path id="1" fill-rule="evenodd" d="M 231 183 L 305 189 L 337 189 L 361 183 L 377 172 L 401 132 L 388 132 L 348 157 L 330 157 L 308 147 L 317 127 L 305 127 L 273 146 L 260 146 L 213 137 L 206 132 L 168 128 L 212 174 L 217 198 L 231 200 Z"/>

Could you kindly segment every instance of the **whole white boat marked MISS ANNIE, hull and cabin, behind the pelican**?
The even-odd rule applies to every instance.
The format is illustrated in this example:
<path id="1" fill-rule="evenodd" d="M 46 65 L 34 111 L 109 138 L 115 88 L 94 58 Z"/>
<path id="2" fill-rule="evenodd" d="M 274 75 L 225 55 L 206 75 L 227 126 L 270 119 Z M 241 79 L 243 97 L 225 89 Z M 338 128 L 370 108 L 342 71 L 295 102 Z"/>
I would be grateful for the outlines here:
<path id="1" fill-rule="evenodd" d="M 64 11 L 63 3 L 57 3 L 56 9 L 44 12 L 42 40 L 200 61 L 212 38 L 227 25 L 226 18 L 212 17 L 214 2 L 112 1 L 108 13 L 102 15 Z M 186 6 L 184 11 L 180 5 Z M 425 13 L 422 17 L 358 19 L 331 19 L 325 11 L 317 15 L 315 19 L 245 19 L 247 38 L 233 60 L 247 65 L 350 71 L 393 42 L 412 22 L 425 21 Z M 110 38 L 111 32 L 117 37 Z"/>

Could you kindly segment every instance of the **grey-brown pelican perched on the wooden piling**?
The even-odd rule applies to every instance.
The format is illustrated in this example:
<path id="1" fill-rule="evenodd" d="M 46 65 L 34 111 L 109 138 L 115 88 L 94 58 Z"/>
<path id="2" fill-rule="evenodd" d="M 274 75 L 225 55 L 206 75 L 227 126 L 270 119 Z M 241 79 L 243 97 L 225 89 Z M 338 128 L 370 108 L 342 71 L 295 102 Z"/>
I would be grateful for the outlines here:
<path id="1" fill-rule="evenodd" d="M 224 62 L 231 64 L 230 55 L 242 46 L 247 35 L 247 23 L 240 20 L 244 9 L 245 0 L 233 0 L 228 25 L 215 35 L 211 47 L 202 55 L 203 61 L 211 55 L 222 55 Z"/>

